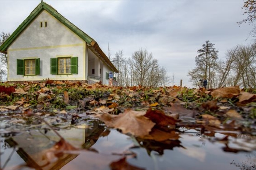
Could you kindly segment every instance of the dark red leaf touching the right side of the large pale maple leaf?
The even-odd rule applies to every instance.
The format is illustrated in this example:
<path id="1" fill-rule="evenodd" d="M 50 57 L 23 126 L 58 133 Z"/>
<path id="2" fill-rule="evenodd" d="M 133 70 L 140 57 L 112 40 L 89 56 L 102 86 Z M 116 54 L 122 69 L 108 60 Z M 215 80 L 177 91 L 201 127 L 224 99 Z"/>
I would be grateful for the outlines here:
<path id="1" fill-rule="evenodd" d="M 174 129 L 175 123 L 178 122 L 174 118 L 165 115 L 162 111 L 152 108 L 149 108 L 144 116 L 156 123 L 157 127 L 169 130 Z"/>

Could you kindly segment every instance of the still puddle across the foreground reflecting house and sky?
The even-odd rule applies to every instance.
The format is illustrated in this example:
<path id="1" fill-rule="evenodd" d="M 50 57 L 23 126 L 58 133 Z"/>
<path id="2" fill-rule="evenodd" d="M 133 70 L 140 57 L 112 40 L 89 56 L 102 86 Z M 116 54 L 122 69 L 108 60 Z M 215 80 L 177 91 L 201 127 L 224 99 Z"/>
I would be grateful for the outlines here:
<path id="1" fill-rule="evenodd" d="M 149 170 L 255 170 L 255 136 L 233 134 L 202 135 L 186 130 L 178 140 L 156 142 L 124 135 L 94 121 L 85 129 L 59 130 L 71 145 L 79 148 L 56 160 L 49 153 L 59 137 L 53 131 L 30 130 L 1 138 L 1 168 L 79 170 L 111 169 L 110 164 L 126 156 L 135 169 Z M 3 131 L 0 131 L 3 132 Z M 3 134 L 3 133 L 1 133 Z M 89 149 L 89 150 L 88 150 Z M 47 155 L 48 154 L 48 155 Z M 136 155 L 136 156 L 135 156 Z M 10 158 L 10 159 L 9 159 Z M 48 160 L 52 162 L 47 163 Z M 28 168 L 24 165 L 33 168 Z M 19 166 L 19 167 L 17 167 Z"/>

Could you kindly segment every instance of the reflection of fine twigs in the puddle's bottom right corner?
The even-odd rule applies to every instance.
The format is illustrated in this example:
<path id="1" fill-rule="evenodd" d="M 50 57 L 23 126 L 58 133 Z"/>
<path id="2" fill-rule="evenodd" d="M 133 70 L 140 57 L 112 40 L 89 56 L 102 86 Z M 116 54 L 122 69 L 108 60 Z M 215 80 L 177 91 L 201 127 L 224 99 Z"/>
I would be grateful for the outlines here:
<path id="1" fill-rule="evenodd" d="M 234 160 L 230 163 L 241 170 L 255 170 L 256 169 L 256 154 L 246 154 L 247 160 L 241 164 L 237 164 Z"/>

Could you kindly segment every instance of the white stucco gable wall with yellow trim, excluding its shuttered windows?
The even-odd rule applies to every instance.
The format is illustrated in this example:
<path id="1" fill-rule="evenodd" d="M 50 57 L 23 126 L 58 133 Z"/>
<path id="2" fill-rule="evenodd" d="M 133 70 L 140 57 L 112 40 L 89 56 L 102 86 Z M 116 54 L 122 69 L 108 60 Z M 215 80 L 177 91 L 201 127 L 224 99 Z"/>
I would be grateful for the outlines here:
<path id="1" fill-rule="evenodd" d="M 45 21 L 47 27 L 45 27 Z M 40 27 L 42 22 L 43 27 Z M 24 80 L 86 80 L 85 42 L 48 12 L 43 11 L 8 48 L 8 81 Z M 78 57 L 78 74 L 50 74 L 50 58 L 61 56 Z M 17 75 L 16 60 L 40 58 L 40 75 Z"/>

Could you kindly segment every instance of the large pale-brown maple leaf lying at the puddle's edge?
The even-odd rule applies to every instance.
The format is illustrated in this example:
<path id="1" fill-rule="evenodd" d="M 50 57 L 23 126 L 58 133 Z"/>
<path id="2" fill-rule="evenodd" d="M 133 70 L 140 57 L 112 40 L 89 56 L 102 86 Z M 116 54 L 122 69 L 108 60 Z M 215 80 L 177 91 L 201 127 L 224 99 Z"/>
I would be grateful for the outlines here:
<path id="1" fill-rule="evenodd" d="M 130 133 L 134 136 L 148 135 L 155 123 L 144 117 L 144 112 L 126 109 L 119 115 L 102 114 L 99 116 L 107 126 L 122 130 L 123 133 Z"/>

